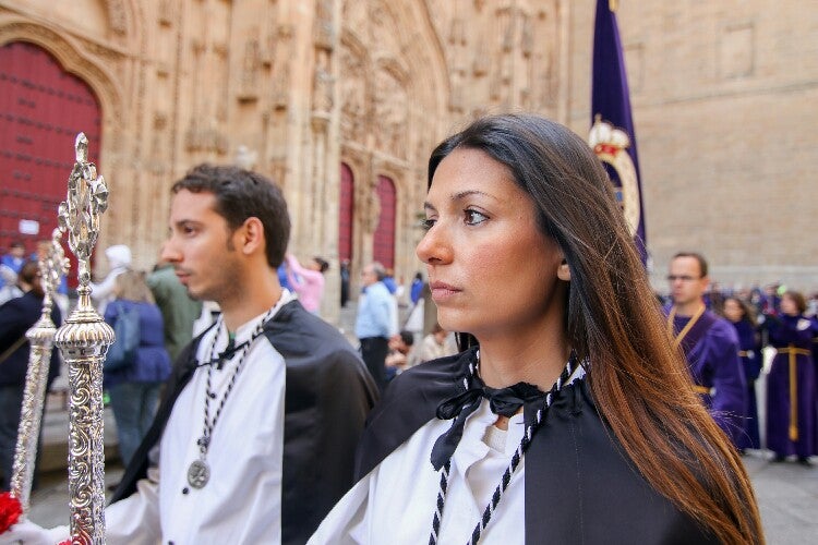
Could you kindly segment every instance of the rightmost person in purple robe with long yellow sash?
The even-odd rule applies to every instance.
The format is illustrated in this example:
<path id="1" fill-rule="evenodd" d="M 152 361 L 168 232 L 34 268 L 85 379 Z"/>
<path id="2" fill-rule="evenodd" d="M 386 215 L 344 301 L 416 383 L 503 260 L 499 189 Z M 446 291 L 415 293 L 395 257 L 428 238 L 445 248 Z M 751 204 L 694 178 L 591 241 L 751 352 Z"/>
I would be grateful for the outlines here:
<path id="1" fill-rule="evenodd" d="M 818 335 L 818 322 L 804 315 L 806 301 L 797 291 L 781 298 L 781 312 L 768 318 L 770 344 L 775 358 L 767 377 L 767 448 L 774 462 L 795 455 L 799 463 L 811 465 L 818 453 L 816 421 L 815 362 L 810 352 Z"/>

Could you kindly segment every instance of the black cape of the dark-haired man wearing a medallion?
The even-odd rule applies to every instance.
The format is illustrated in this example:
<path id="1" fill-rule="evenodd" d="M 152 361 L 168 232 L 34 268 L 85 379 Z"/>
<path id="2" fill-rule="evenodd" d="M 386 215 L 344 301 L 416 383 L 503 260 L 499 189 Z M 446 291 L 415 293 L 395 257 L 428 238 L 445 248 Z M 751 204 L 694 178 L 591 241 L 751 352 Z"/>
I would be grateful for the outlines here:
<path id="1" fill-rule="evenodd" d="M 279 308 L 264 335 L 287 365 L 281 543 L 301 544 L 354 482 L 354 449 L 377 388 L 350 343 L 298 301 Z M 156 419 L 111 502 L 133 494 L 145 477 L 148 452 L 161 439 L 173 403 L 196 370 L 203 336 L 179 355 Z"/>

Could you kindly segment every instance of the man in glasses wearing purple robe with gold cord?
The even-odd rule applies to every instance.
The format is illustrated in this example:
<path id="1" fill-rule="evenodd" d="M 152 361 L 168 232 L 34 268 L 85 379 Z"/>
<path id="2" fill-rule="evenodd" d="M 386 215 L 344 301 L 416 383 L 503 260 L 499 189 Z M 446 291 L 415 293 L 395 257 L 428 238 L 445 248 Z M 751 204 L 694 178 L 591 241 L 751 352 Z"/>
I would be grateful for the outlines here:
<path id="1" fill-rule="evenodd" d="M 673 256 L 667 275 L 673 301 L 667 308 L 667 327 L 674 346 L 685 354 L 696 391 L 717 424 L 735 443 L 744 432 L 744 368 L 735 328 L 705 306 L 709 281 L 703 256 L 694 252 Z"/>

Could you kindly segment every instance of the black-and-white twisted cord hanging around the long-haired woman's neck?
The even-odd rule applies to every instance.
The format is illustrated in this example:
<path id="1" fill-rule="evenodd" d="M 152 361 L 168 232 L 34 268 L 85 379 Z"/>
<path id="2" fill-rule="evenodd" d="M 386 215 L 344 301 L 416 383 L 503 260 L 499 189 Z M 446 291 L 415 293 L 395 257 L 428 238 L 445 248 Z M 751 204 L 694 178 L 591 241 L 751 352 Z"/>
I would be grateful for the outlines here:
<path id="1" fill-rule="evenodd" d="M 477 352 L 477 360 L 480 361 L 479 351 Z M 545 412 L 551 407 L 554 395 L 563 388 L 563 385 L 574 374 L 574 362 L 575 356 L 574 354 L 572 354 L 572 356 L 568 358 L 568 363 L 566 363 L 565 370 L 557 377 L 556 383 L 554 383 L 554 385 L 551 387 L 551 390 L 549 390 L 549 392 L 545 395 L 545 404 L 541 409 L 538 409 L 537 413 L 534 413 L 534 422 L 526 426 L 526 429 L 522 433 L 522 440 L 520 440 L 520 444 L 517 446 L 517 450 L 515 450 L 514 456 L 512 456 L 512 461 L 506 468 L 505 472 L 503 472 L 503 477 L 500 480 L 500 484 L 494 489 L 491 501 L 489 501 L 489 505 L 485 506 L 483 516 L 480 518 L 480 521 L 474 526 L 474 530 L 471 533 L 471 537 L 467 542 L 469 545 L 477 545 L 477 543 L 480 542 L 480 537 L 483 531 L 489 525 L 489 522 L 491 522 L 492 516 L 494 514 L 497 505 L 500 505 L 500 500 L 503 498 L 503 494 L 506 492 L 506 488 L 508 488 L 508 485 L 512 482 L 514 472 L 517 471 L 517 467 L 520 464 L 520 460 L 522 460 L 526 450 L 528 450 L 529 445 L 531 445 L 531 439 L 533 438 L 534 433 L 540 428 L 540 425 L 542 424 L 542 421 L 545 416 Z M 464 387 L 466 387 L 467 389 L 469 387 L 468 379 L 477 374 L 477 366 L 473 363 L 470 363 L 469 371 L 471 372 L 469 377 L 464 378 Z M 435 502 L 434 517 L 432 518 L 432 533 L 429 536 L 429 545 L 437 545 L 441 524 L 443 523 L 443 507 L 446 504 L 446 491 L 448 489 L 448 476 L 450 470 L 452 460 L 449 459 L 448 461 L 446 461 L 443 468 L 441 468 L 441 485 L 437 491 L 437 501 Z"/>

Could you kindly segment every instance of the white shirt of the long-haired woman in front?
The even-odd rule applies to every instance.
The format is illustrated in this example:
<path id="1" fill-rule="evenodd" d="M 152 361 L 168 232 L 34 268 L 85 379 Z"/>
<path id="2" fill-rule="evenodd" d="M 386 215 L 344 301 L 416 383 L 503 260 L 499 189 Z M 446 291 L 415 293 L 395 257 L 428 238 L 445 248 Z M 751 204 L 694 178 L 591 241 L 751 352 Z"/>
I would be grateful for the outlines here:
<path id="1" fill-rule="evenodd" d="M 468 542 L 522 439 L 525 424 L 522 414 L 517 414 L 508 421 L 503 451 L 490 448 L 484 437 L 496 420 L 483 400 L 466 421 L 452 457 L 441 544 Z M 452 421 L 435 419 L 418 429 L 338 502 L 309 543 L 428 543 L 441 483 L 430 457 L 437 437 L 450 426 Z M 482 544 L 524 543 L 524 476 L 525 457 L 482 534 Z"/>

